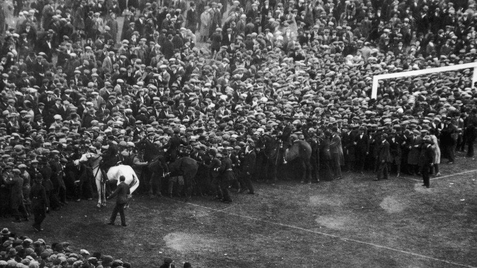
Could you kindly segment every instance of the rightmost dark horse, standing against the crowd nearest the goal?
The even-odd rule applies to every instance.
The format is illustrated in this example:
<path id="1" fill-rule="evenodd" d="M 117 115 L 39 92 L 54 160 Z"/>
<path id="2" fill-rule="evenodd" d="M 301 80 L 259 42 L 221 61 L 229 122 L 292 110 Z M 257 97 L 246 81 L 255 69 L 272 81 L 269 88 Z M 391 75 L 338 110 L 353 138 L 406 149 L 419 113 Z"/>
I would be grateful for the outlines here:
<path id="1" fill-rule="evenodd" d="M 311 176 L 311 146 L 307 142 L 298 140 L 293 142 L 289 148 L 283 150 L 281 140 L 270 135 L 263 135 L 260 137 L 258 145 L 263 147 L 263 152 L 267 158 L 265 164 L 266 179 L 268 179 L 268 171 L 271 169 L 271 178 L 274 182 L 277 181 L 277 168 L 283 164 L 283 159 L 286 162 L 300 161 L 301 167 L 303 168 L 302 182 Z"/>

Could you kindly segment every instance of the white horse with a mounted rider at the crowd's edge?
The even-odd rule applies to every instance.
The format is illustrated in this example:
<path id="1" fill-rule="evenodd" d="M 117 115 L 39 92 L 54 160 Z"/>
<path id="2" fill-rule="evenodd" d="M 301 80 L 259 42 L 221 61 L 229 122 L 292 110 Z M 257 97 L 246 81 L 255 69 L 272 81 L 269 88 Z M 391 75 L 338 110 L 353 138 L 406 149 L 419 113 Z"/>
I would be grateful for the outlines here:
<path id="1" fill-rule="evenodd" d="M 87 152 L 83 154 L 80 159 L 74 161 L 75 165 L 88 162 L 93 169 L 93 176 L 96 180 L 96 187 L 98 188 L 97 207 L 106 206 L 106 181 L 103 180 L 103 173 L 99 168 L 102 159 L 99 154 Z M 118 185 L 120 184 L 119 177 L 124 176 L 126 178 L 125 183 L 130 185 L 131 195 L 139 186 L 139 179 L 137 178 L 136 172 L 134 172 L 129 165 L 111 166 L 106 175 L 108 176 L 108 181 L 117 181 Z"/>

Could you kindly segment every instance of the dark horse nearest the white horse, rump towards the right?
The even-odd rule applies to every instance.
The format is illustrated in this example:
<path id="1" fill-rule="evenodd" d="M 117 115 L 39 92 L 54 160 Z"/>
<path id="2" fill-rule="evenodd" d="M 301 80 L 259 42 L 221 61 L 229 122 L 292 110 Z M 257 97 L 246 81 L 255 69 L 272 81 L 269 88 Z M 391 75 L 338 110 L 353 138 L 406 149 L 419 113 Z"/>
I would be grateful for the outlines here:
<path id="1" fill-rule="evenodd" d="M 149 163 L 148 167 L 156 174 L 162 173 L 160 176 L 162 178 L 182 176 L 186 199 L 191 197 L 194 178 L 198 169 L 197 161 L 189 156 L 182 156 L 167 165 L 164 156 L 159 155 Z"/>

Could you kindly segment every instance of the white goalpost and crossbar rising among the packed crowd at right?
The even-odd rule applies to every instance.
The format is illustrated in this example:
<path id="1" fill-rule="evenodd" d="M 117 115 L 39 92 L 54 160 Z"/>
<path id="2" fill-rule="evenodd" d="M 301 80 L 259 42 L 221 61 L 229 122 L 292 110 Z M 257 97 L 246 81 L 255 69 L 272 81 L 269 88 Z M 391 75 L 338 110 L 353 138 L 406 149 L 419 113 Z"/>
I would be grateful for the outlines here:
<path id="1" fill-rule="evenodd" d="M 406 77 L 406 76 L 416 76 L 416 75 L 425 75 L 431 73 L 439 73 L 439 72 L 448 72 L 448 71 L 455 71 L 460 69 L 473 69 L 472 74 L 472 87 L 477 82 L 477 62 L 469 62 L 463 64 L 455 64 L 443 67 L 435 67 L 435 68 L 428 68 L 422 70 L 414 70 L 414 71 L 407 71 L 407 72 L 400 72 L 400 73 L 389 73 L 389 74 L 382 74 L 382 75 L 375 75 L 373 76 L 373 84 L 371 90 L 371 99 L 376 99 L 378 96 L 378 86 L 379 80 L 382 79 L 390 79 L 390 78 L 399 78 L 399 77 Z"/>

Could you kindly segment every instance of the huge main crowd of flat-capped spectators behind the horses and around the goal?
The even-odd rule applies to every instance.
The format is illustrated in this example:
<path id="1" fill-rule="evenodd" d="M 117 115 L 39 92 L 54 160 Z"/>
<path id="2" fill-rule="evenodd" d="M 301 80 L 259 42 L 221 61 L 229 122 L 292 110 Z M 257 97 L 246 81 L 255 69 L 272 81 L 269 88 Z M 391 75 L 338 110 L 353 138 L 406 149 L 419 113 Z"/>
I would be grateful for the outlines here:
<path id="1" fill-rule="evenodd" d="M 0 214 L 34 214 L 37 230 L 49 208 L 92 199 L 91 168 L 75 162 L 87 151 L 104 168 L 131 165 L 139 191 L 170 196 L 183 182 L 148 164 L 189 155 L 195 192 L 224 202 L 230 185 L 253 194 L 253 181 L 277 180 L 265 135 L 311 145 L 307 182 L 342 168 L 425 179 L 456 151 L 474 157 L 472 70 L 383 80 L 370 98 L 373 75 L 474 62 L 472 0 L 0 7 Z"/>

